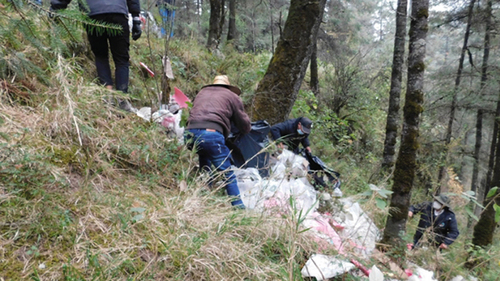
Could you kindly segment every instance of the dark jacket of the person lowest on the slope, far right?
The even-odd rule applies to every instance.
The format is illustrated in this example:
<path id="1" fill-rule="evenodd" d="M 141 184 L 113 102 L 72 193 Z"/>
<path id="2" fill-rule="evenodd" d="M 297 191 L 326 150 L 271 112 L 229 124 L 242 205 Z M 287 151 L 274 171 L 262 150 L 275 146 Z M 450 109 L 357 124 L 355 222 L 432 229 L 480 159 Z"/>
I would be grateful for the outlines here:
<path id="1" fill-rule="evenodd" d="M 415 215 L 418 213 L 421 214 L 417 232 L 413 237 L 413 244 L 415 245 L 422 237 L 424 231 L 431 226 L 431 233 L 434 241 L 436 242 L 436 246 L 439 246 L 441 243 L 450 245 L 460 234 L 458 232 L 455 213 L 453 213 L 453 211 L 448 207 L 445 207 L 444 212 L 437 218 L 435 217 L 434 210 L 432 209 L 432 202 L 424 202 L 411 206 L 409 211 Z"/>

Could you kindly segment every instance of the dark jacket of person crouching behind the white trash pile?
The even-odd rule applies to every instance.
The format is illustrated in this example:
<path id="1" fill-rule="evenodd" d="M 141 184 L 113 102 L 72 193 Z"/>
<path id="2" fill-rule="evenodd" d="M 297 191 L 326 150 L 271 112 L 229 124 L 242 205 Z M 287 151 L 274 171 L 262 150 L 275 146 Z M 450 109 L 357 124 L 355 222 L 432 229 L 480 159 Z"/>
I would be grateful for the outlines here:
<path id="1" fill-rule="evenodd" d="M 290 119 L 282 123 L 278 123 L 271 127 L 271 135 L 273 139 L 278 142 L 283 142 L 288 145 L 288 149 L 295 153 L 299 152 L 299 144 L 302 146 L 310 146 L 309 134 L 299 135 L 297 132 L 297 126 L 301 121 L 302 117 L 297 119 Z"/>

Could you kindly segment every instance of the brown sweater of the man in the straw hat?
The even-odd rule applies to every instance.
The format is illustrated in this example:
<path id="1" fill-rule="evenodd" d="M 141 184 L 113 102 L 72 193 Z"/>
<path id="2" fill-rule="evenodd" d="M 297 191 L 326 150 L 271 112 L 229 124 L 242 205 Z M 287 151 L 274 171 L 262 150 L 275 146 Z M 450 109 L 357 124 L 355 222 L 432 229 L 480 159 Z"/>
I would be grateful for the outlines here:
<path id="1" fill-rule="evenodd" d="M 251 130 L 240 97 L 223 86 L 203 87 L 194 99 L 187 129 L 214 129 L 227 137 L 231 122 L 243 134 Z"/>

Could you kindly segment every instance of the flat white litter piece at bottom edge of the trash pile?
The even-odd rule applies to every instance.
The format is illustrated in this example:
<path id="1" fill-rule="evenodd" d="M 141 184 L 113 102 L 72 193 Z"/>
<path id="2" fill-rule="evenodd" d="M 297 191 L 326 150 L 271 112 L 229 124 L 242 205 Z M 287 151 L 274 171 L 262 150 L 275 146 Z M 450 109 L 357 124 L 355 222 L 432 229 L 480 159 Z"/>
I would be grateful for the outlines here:
<path id="1" fill-rule="evenodd" d="M 347 261 L 322 254 L 313 254 L 300 272 L 303 277 L 327 280 L 349 272 L 354 267 L 354 264 Z"/>

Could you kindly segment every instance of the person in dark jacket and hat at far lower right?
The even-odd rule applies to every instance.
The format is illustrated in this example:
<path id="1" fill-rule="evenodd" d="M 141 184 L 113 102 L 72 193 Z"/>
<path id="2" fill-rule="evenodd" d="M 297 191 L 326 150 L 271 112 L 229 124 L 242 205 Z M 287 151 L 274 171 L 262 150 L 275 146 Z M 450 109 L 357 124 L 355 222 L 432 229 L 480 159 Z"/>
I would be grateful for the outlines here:
<path id="1" fill-rule="evenodd" d="M 424 231 L 430 229 L 431 242 L 439 249 L 447 249 L 460 234 L 458 232 L 455 213 L 451 210 L 448 196 L 440 194 L 434 196 L 433 202 L 424 202 L 411 206 L 408 217 L 412 218 L 416 214 L 420 215 L 417 231 L 413 237 L 412 248 L 418 246 Z"/>

